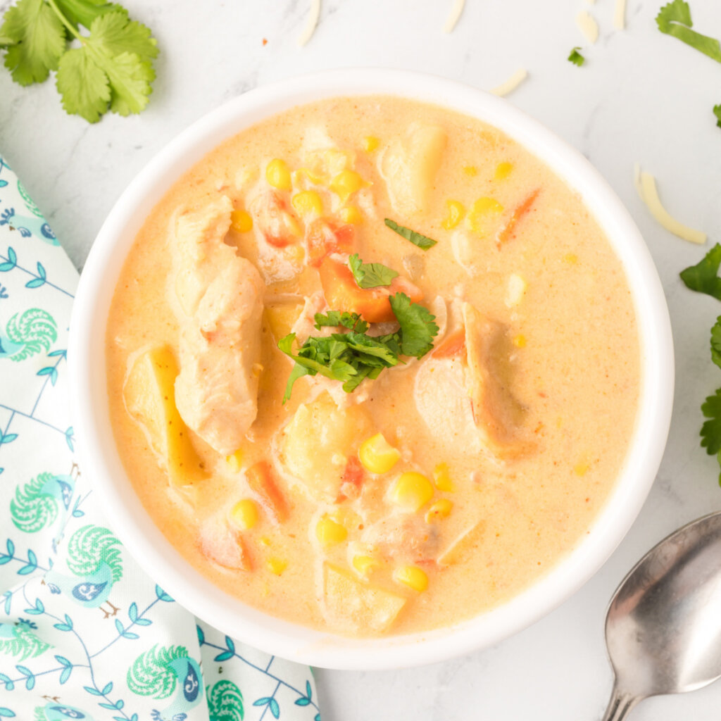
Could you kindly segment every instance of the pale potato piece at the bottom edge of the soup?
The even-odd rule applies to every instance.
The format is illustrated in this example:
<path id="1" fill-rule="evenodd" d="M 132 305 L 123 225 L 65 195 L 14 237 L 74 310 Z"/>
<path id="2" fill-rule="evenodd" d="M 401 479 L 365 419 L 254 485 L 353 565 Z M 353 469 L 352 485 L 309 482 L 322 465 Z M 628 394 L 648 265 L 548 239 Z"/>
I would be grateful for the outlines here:
<path id="1" fill-rule="evenodd" d="M 406 603 L 403 596 L 361 583 L 338 566 L 324 564 L 323 575 L 327 620 L 346 632 L 387 631 Z"/>

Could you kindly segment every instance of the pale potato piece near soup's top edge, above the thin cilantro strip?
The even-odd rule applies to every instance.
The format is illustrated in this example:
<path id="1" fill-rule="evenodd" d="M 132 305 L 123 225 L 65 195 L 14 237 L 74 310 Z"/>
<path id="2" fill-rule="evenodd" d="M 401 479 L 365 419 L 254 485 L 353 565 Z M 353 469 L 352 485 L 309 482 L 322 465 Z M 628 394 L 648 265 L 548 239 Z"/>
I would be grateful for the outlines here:
<path id="1" fill-rule="evenodd" d="M 381 174 L 394 211 L 412 216 L 428 208 L 428 195 L 447 141 L 440 125 L 414 123 L 403 141 L 388 147 L 381 159 Z"/>

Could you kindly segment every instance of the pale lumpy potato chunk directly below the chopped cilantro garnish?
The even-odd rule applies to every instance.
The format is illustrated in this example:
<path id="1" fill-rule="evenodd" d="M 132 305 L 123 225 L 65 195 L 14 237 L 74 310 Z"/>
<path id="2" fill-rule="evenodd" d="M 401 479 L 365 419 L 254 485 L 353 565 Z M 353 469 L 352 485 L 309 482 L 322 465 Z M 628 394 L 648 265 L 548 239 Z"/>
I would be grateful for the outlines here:
<path id="1" fill-rule="evenodd" d="M 280 435 L 280 462 L 315 500 L 334 503 L 357 438 L 371 432 L 361 405 L 340 410 L 327 393 L 301 404 Z"/>

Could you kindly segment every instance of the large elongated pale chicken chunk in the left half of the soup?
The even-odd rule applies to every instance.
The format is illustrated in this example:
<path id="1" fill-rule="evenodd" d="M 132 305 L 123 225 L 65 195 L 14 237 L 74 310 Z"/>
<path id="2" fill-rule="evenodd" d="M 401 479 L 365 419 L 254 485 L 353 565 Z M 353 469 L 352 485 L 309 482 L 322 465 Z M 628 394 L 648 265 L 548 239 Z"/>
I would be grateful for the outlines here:
<path id="1" fill-rule="evenodd" d="M 221 198 L 177 221 L 175 290 L 182 310 L 182 419 L 219 454 L 240 446 L 257 413 L 264 284 L 249 260 L 224 243 L 232 205 Z"/>

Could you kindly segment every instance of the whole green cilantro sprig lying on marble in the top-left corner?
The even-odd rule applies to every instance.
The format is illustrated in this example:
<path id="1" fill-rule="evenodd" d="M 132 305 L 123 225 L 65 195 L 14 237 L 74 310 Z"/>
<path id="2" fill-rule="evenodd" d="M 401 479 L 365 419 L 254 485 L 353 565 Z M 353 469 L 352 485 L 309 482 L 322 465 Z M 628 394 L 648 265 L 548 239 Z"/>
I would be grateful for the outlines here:
<path id="1" fill-rule="evenodd" d="M 158 55 L 149 28 L 131 20 L 122 6 L 102 0 L 19 0 L 5 13 L 0 49 L 20 85 L 44 82 L 56 71 L 66 112 L 89 123 L 108 110 L 141 112 Z"/>

